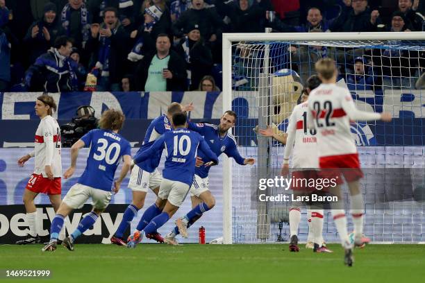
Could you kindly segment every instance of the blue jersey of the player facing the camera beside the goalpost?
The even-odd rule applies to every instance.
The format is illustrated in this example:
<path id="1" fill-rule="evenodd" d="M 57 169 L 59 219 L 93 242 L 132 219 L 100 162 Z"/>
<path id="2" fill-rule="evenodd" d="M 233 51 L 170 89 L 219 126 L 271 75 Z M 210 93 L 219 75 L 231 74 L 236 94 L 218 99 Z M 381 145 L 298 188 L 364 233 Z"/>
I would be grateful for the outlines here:
<path id="1" fill-rule="evenodd" d="M 188 123 L 189 130 L 194 130 L 199 132 L 203 136 L 208 146 L 211 148 L 211 151 L 215 155 L 219 156 L 222 153 L 225 153 L 228 157 L 233 157 L 235 161 L 244 165 L 244 157 L 240 156 L 238 151 L 238 146 L 236 144 L 236 139 L 231 134 L 226 134 L 224 137 L 220 137 L 219 129 L 217 125 L 212 125 L 209 123 Z M 198 151 L 198 156 L 202 158 L 203 162 L 210 162 L 211 160 L 208 156 L 203 153 L 203 151 Z M 195 174 L 199 175 L 201 178 L 208 177 L 208 172 L 210 167 L 200 166 L 195 169 Z"/>

